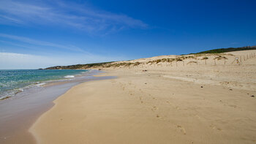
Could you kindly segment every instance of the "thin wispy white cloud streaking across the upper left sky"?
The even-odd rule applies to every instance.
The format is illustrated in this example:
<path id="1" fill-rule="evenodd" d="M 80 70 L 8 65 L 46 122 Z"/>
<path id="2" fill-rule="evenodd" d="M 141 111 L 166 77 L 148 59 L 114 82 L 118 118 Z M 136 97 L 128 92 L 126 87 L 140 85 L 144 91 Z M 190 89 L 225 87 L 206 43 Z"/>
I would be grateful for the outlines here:
<path id="1" fill-rule="evenodd" d="M 89 34 L 108 34 L 129 28 L 147 28 L 141 20 L 127 15 L 103 10 L 94 10 L 88 4 L 64 1 L 45 3 L 43 1 L 0 1 L 1 23 L 43 24 L 82 29 Z"/>

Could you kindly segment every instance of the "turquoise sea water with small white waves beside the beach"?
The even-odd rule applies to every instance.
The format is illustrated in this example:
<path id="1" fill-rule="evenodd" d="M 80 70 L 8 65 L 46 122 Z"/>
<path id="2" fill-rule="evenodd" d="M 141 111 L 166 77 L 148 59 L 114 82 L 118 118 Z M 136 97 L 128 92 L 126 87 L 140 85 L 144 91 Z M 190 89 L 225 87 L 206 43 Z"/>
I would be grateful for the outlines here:
<path id="1" fill-rule="evenodd" d="M 0 70 L 0 99 L 13 96 L 27 86 L 39 86 L 49 80 L 72 78 L 86 71 L 77 69 Z"/>

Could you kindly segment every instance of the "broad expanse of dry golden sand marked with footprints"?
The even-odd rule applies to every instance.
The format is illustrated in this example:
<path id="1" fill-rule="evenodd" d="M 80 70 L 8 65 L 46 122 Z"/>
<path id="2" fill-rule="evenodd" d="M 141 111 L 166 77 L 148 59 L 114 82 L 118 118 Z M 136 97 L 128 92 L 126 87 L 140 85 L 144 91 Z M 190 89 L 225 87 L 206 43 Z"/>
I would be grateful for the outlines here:
<path id="1" fill-rule="evenodd" d="M 256 143 L 255 57 L 107 71 L 118 78 L 82 83 L 54 101 L 31 126 L 38 143 Z"/>

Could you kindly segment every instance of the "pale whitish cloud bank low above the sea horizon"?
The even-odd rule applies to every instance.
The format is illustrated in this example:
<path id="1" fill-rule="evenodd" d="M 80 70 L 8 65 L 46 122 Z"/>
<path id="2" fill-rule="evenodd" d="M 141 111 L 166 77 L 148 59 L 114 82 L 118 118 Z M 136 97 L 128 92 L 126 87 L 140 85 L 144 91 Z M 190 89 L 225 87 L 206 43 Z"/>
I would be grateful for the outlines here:
<path id="1" fill-rule="evenodd" d="M 0 53 L 0 69 L 39 69 L 59 65 L 89 64 L 118 60 L 124 60 L 124 58 L 97 55 L 48 57 L 22 53 Z"/>

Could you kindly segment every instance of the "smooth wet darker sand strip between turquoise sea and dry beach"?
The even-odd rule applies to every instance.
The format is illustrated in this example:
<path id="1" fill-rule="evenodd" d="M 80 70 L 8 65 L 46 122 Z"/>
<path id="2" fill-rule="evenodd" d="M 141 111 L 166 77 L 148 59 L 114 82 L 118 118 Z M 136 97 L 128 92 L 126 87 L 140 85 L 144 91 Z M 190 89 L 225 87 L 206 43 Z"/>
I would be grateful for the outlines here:
<path id="1" fill-rule="evenodd" d="M 93 75 L 97 75 L 97 73 L 94 72 Z M 89 76 L 73 82 L 51 83 L 40 91 L 33 91 L 26 96 L 1 101 L 0 143 L 36 143 L 33 135 L 29 132 L 29 128 L 40 115 L 53 107 L 54 99 L 79 83 L 105 78 L 111 77 Z"/>

